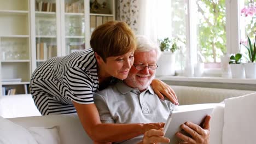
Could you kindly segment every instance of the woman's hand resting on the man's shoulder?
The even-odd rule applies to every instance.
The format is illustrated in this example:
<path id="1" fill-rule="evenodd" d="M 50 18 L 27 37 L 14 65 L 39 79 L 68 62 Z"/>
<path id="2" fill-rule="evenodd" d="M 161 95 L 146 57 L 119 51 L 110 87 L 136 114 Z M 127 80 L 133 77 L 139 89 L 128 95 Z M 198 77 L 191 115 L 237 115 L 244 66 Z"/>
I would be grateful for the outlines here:
<path id="1" fill-rule="evenodd" d="M 151 86 L 154 92 L 160 99 L 164 99 L 164 96 L 171 100 L 173 104 L 178 105 L 178 99 L 173 89 L 161 80 L 154 79 L 151 82 Z"/>

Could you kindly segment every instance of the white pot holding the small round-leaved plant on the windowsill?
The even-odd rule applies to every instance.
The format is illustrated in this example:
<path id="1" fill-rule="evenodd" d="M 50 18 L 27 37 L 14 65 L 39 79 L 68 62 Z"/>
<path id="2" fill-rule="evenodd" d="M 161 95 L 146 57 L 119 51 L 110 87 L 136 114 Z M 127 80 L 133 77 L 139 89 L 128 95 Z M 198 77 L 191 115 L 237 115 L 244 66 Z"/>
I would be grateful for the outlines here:
<path id="1" fill-rule="evenodd" d="M 243 64 L 230 64 L 232 79 L 245 79 L 245 66 Z"/>

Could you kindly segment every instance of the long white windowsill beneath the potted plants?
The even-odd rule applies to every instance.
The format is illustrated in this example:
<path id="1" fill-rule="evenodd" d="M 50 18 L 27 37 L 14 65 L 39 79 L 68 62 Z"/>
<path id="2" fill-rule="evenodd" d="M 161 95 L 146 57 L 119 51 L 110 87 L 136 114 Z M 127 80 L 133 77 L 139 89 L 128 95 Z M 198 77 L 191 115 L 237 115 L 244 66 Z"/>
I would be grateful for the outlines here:
<path id="1" fill-rule="evenodd" d="M 156 78 L 162 81 L 237 83 L 237 84 L 256 85 L 256 79 L 225 79 L 223 77 L 185 77 L 185 76 L 156 76 Z"/>

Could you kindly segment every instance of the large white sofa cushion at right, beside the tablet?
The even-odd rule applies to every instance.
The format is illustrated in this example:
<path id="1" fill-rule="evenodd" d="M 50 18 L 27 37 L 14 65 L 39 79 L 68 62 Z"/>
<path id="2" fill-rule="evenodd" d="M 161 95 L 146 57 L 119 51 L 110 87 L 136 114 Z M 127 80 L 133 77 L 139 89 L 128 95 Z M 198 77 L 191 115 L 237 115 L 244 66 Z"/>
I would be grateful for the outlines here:
<path id="1" fill-rule="evenodd" d="M 255 143 L 256 93 L 225 99 L 223 144 Z"/>

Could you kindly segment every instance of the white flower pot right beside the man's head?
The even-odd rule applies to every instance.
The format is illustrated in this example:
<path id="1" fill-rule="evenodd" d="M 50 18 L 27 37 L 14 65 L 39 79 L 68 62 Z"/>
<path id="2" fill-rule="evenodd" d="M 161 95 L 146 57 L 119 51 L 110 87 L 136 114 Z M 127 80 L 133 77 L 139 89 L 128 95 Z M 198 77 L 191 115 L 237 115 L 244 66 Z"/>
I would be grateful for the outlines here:
<path id="1" fill-rule="evenodd" d="M 162 52 L 156 69 L 156 76 L 166 76 L 175 74 L 175 55 L 172 52 Z"/>

